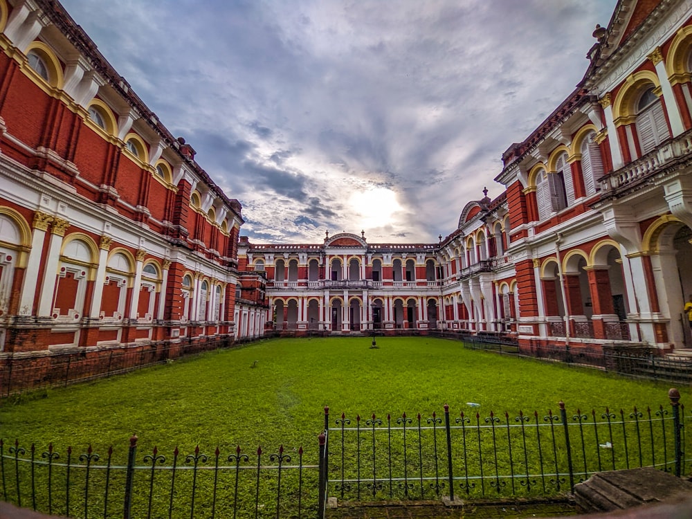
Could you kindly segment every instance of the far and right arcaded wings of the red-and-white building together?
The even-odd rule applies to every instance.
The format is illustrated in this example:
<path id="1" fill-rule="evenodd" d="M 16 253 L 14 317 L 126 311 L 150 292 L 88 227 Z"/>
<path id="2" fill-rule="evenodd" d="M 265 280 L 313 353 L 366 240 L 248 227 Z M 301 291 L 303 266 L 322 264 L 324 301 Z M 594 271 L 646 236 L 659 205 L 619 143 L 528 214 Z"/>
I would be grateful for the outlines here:
<path id="1" fill-rule="evenodd" d="M 243 242 L 241 263 L 268 276 L 268 322 L 692 346 L 691 17 L 691 1 L 619 1 L 574 92 L 502 155 L 504 193 L 467 203 L 439 244 Z"/>

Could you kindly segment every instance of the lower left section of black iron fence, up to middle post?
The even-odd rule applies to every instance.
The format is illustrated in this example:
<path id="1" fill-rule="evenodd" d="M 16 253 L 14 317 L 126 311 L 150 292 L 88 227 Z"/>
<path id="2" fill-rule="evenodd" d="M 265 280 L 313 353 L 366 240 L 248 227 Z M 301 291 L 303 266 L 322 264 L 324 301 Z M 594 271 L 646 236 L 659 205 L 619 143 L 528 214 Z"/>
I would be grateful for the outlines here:
<path id="1" fill-rule="evenodd" d="M 325 435 L 320 435 L 320 451 Z M 319 464 L 304 462 L 303 449 L 261 446 L 184 454 L 154 448 L 137 453 L 130 439 L 127 462 L 109 448 L 82 453 L 53 444 L 37 448 L 0 440 L 1 498 L 19 507 L 75 518 L 313 518 L 322 488 Z M 322 453 L 322 456 L 324 454 Z M 313 452 L 313 459 L 317 453 Z M 322 478 L 323 479 L 323 478 Z M 322 514 L 324 513 L 322 498 Z M 323 515 L 322 515 L 323 517 Z"/>

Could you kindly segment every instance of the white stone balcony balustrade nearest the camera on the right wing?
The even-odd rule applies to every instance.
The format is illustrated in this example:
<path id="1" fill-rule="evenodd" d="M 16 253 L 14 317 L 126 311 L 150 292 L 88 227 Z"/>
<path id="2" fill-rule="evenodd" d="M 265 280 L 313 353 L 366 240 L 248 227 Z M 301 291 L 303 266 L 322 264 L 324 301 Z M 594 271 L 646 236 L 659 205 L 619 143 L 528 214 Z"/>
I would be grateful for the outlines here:
<path id="1" fill-rule="evenodd" d="M 601 196 L 615 194 L 672 165 L 677 158 L 692 152 L 692 131 L 667 140 L 636 161 L 601 179 Z"/>

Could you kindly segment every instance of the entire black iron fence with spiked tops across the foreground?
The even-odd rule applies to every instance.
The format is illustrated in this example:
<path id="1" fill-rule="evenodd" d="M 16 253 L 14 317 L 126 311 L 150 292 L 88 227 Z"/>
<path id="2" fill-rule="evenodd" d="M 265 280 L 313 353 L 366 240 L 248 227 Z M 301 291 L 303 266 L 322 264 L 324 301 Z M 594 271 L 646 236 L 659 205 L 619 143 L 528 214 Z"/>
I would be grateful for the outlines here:
<path id="1" fill-rule="evenodd" d="M 336 419 L 304 452 L 199 447 L 95 453 L 0 440 L 0 497 L 76 518 L 325 517 L 328 499 L 542 498 L 599 471 L 692 473 L 692 413 L 670 405 L 557 412 L 463 411 Z M 688 453 L 687 455 L 685 453 Z"/>

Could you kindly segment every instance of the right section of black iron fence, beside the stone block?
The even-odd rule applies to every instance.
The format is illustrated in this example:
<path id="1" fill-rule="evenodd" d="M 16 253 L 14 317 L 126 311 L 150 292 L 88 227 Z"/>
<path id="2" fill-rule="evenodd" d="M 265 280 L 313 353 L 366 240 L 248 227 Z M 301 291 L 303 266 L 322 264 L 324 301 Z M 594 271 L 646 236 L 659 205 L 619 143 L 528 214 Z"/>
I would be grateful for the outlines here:
<path id="1" fill-rule="evenodd" d="M 531 498 L 569 492 L 599 471 L 692 472 L 686 415 L 671 406 L 456 415 L 340 415 L 329 421 L 329 493 L 347 501 Z M 692 453 L 692 448 L 687 450 Z"/>

